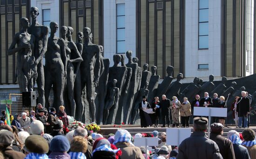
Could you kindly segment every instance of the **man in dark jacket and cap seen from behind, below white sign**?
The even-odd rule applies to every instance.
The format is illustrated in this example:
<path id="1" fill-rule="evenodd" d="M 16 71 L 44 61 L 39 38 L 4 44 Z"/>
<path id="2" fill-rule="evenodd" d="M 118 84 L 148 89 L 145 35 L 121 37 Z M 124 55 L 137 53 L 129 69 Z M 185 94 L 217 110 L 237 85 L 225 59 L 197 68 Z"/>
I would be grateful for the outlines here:
<path id="1" fill-rule="evenodd" d="M 182 141 L 177 159 L 223 159 L 219 147 L 207 138 L 207 118 L 194 118 L 194 133 Z"/>

